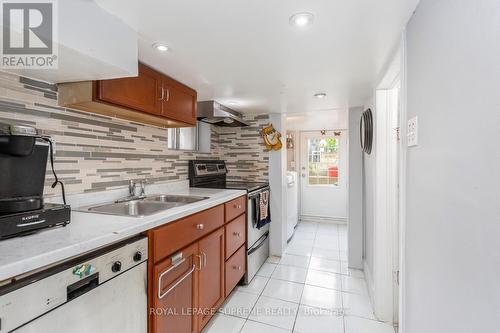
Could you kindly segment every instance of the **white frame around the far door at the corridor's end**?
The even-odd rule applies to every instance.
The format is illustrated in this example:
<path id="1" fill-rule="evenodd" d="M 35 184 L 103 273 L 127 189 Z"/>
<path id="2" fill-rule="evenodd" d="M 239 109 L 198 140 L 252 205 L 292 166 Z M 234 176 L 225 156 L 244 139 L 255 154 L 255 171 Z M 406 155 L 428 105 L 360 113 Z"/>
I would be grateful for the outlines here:
<path id="1" fill-rule="evenodd" d="M 303 154 L 303 136 L 307 135 L 308 133 L 318 133 L 320 131 L 326 131 L 328 132 L 341 132 L 341 140 L 340 143 L 343 143 L 343 146 L 341 147 L 340 152 L 344 154 L 342 157 L 342 161 L 339 161 L 339 166 L 342 165 L 342 173 L 339 173 L 339 176 L 341 175 L 343 177 L 342 181 L 339 180 L 339 186 L 334 188 L 335 190 L 342 190 L 344 189 L 346 192 L 346 214 L 348 210 L 348 204 L 347 204 L 347 196 L 348 196 L 348 184 L 349 184 L 349 133 L 348 130 L 346 129 L 321 129 L 321 130 L 303 130 L 303 131 L 296 131 L 297 132 L 297 139 L 296 139 L 296 149 L 295 149 L 295 159 L 296 159 L 296 170 L 297 170 L 297 179 L 299 180 L 298 182 L 298 199 L 299 199 L 299 220 L 300 221 L 325 221 L 325 222 L 334 222 L 334 223 L 347 223 L 347 217 L 324 217 L 324 216 L 311 216 L 311 215 L 304 215 L 303 214 L 303 200 L 302 200 L 302 186 L 304 179 L 302 177 L 302 154 Z M 342 141 L 343 140 L 343 141 Z M 298 144 L 297 144 L 298 143 Z M 340 171 L 340 169 L 339 169 Z M 343 187 L 342 187 L 343 186 Z"/>

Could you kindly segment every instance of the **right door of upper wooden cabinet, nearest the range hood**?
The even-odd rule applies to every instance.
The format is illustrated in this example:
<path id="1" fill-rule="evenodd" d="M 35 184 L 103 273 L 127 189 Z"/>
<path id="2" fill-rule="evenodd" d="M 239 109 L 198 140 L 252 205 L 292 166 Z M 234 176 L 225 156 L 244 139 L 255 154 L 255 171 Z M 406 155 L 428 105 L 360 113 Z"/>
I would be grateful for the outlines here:
<path id="1" fill-rule="evenodd" d="M 196 124 L 196 91 L 168 77 L 163 79 L 162 115 L 187 124 Z"/>

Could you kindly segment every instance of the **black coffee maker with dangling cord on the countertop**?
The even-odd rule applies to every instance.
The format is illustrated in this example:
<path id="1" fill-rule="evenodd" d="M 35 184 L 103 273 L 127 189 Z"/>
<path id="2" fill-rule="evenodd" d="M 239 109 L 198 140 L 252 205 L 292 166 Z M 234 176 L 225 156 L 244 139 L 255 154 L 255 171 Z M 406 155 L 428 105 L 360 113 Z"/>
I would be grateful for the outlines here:
<path id="1" fill-rule="evenodd" d="M 53 187 L 63 187 L 52 153 L 51 141 L 35 128 L 0 123 L 0 238 L 69 223 L 69 206 L 43 202 L 49 156 Z"/>

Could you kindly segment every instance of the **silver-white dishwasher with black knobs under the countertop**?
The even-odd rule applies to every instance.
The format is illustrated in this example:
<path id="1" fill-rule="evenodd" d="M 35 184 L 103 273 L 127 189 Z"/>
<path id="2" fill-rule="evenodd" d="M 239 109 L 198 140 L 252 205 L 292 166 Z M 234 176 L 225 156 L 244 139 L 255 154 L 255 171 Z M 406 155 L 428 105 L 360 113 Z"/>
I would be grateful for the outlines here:
<path id="1" fill-rule="evenodd" d="M 147 259 L 135 237 L 0 287 L 0 333 L 146 333 Z"/>

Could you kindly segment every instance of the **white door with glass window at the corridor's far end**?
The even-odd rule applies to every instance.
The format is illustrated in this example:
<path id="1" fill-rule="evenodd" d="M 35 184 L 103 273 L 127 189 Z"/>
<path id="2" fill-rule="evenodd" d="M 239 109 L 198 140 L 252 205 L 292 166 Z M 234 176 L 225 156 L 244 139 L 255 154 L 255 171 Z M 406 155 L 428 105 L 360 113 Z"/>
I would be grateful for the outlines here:
<path id="1" fill-rule="evenodd" d="M 302 218 L 347 217 L 346 154 L 343 131 L 300 133 Z"/>

